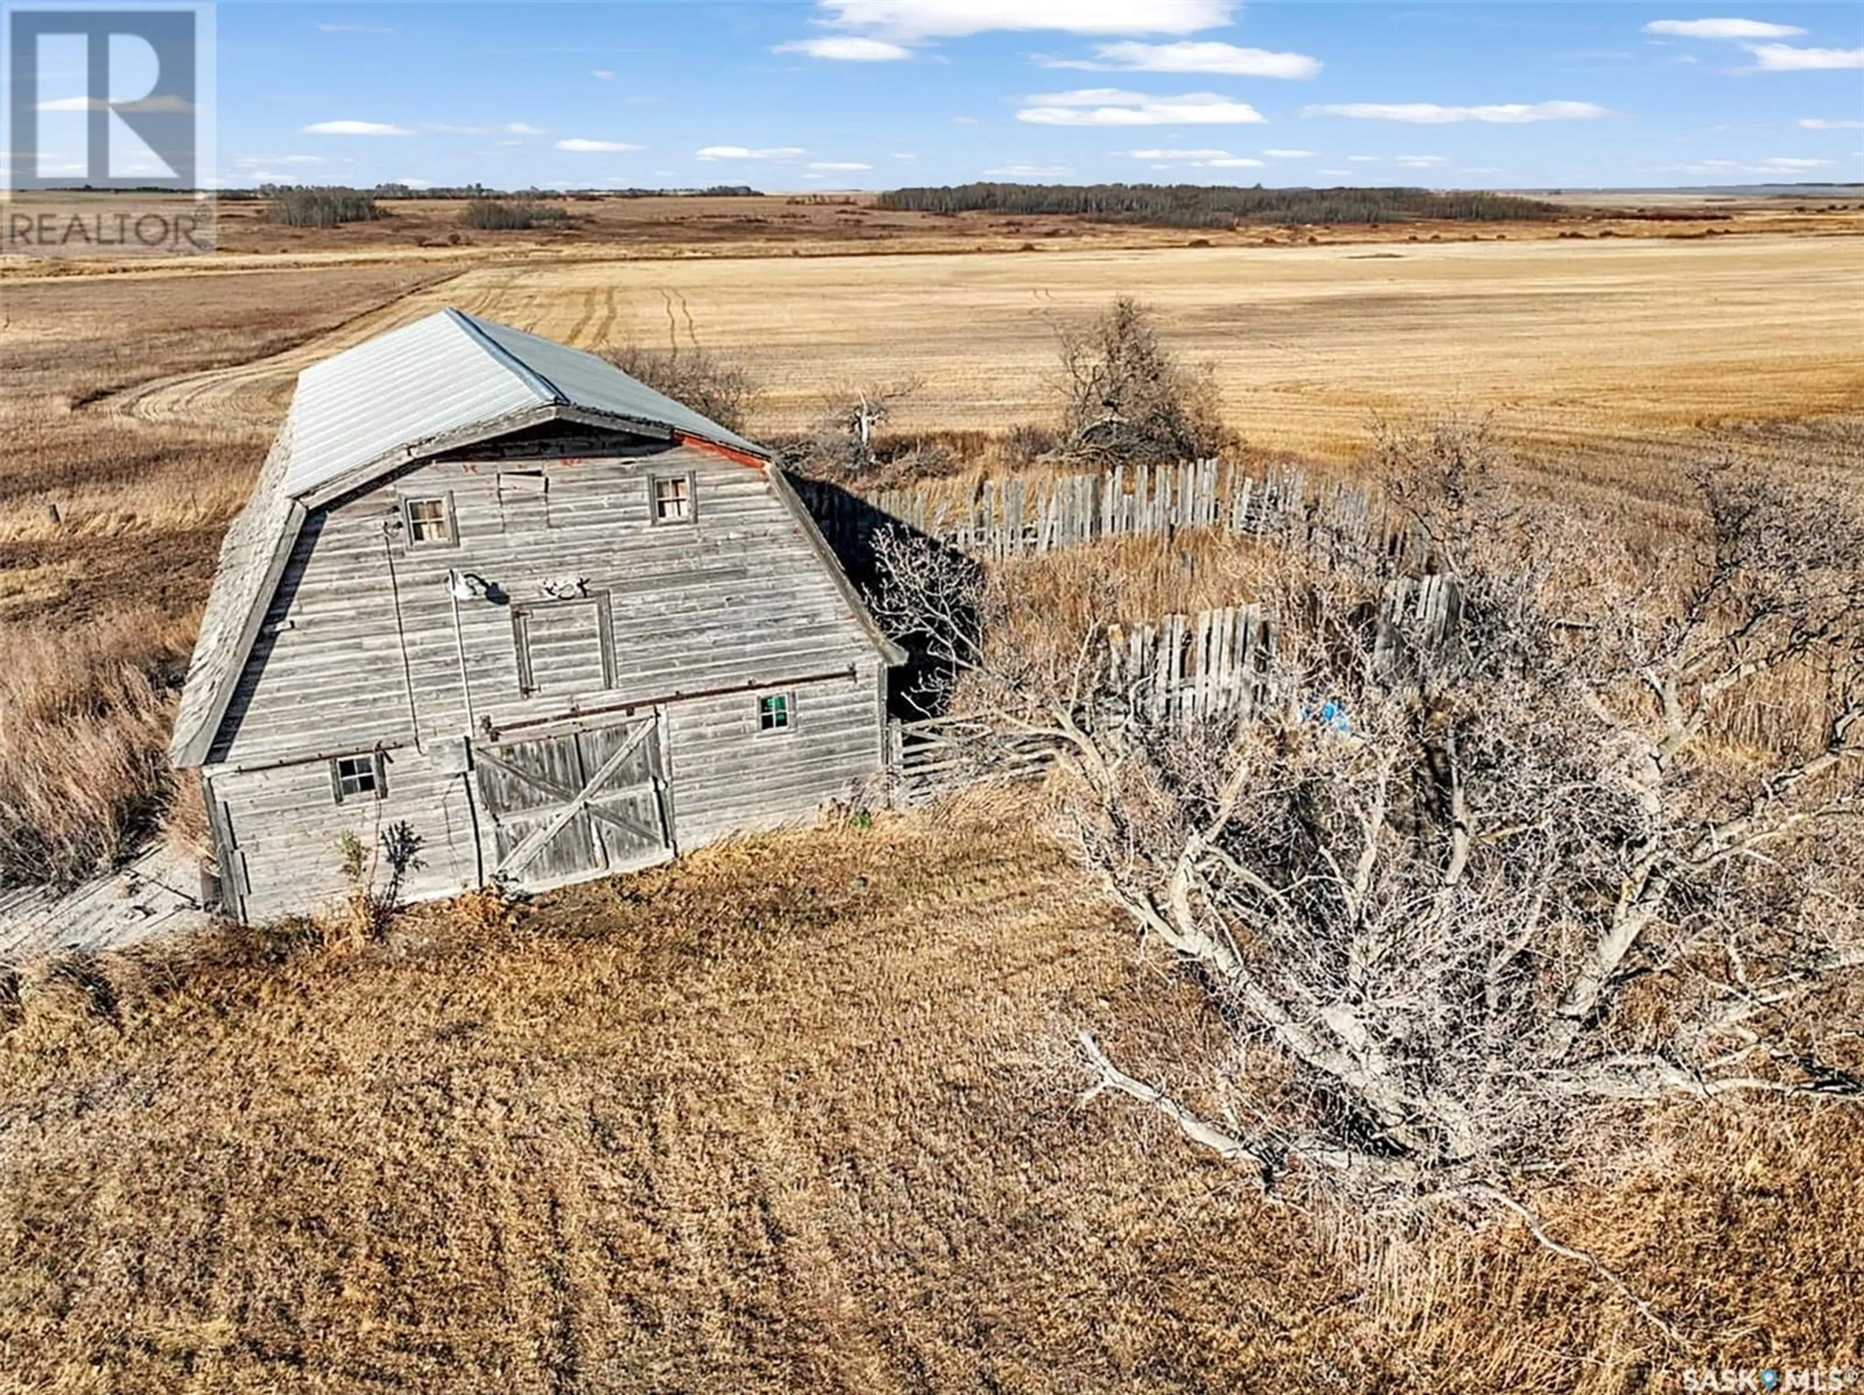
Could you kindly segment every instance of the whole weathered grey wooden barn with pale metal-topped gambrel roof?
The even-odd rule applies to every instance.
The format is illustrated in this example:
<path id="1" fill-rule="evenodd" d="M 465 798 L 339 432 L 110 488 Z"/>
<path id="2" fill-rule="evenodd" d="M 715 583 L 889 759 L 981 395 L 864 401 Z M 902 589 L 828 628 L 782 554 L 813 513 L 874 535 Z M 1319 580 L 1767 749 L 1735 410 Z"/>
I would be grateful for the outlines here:
<path id="1" fill-rule="evenodd" d="M 233 916 L 399 825 L 410 898 L 541 888 L 850 793 L 900 657 L 759 445 L 445 309 L 298 376 L 170 754 Z"/>

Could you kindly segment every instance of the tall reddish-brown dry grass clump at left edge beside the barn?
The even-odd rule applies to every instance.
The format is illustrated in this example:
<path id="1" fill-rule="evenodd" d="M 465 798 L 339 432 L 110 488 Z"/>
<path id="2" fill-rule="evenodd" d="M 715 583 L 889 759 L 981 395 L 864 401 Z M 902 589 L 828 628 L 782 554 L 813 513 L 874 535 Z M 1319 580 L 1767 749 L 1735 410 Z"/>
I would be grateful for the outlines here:
<path id="1" fill-rule="evenodd" d="M 155 825 L 194 626 L 125 609 L 0 633 L 0 877 L 71 883 Z"/>

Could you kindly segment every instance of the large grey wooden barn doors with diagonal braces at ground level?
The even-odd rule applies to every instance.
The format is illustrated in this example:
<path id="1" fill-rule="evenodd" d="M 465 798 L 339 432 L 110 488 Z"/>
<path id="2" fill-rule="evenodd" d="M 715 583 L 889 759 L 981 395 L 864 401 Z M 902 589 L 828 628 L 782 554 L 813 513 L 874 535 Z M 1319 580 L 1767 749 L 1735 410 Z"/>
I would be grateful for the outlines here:
<path id="1" fill-rule="evenodd" d="M 658 862 L 673 846 L 658 717 L 477 749 L 494 870 L 555 887 Z"/>

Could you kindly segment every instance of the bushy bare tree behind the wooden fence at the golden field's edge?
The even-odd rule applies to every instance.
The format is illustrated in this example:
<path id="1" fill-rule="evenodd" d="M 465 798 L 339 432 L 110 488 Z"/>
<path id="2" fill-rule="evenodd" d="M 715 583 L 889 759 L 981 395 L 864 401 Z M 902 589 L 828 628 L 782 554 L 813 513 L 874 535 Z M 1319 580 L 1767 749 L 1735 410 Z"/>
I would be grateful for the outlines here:
<path id="1" fill-rule="evenodd" d="M 1178 464 L 1223 445 L 1213 374 L 1180 363 L 1139 302 L 1120 296 L 1089 324 L 1061 326 L 1057 339 L 1064 456 Z"/>

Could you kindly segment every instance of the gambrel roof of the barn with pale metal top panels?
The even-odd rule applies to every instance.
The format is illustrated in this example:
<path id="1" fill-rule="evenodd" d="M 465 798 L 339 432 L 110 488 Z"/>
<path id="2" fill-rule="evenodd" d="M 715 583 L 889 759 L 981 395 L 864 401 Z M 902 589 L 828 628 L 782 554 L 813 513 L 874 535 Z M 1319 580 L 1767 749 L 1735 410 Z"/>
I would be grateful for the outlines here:
<path id="1" fill-rule="evenodd" d="M 539 335 L 442 309 L 298 374 L 291 412 L 220 546 L 170 758 L 207 760 L 306 514 L 442 451 L 546 421 L 705 443 L 766 464 L 768 453 L 621 369 Z M 843 587 L 833 555 L 785 481 L 774 484 Z M 859 596 L 856 615 L 874 630 Z"/>

